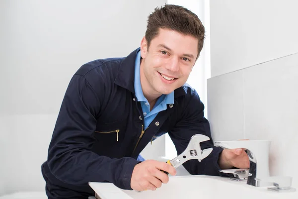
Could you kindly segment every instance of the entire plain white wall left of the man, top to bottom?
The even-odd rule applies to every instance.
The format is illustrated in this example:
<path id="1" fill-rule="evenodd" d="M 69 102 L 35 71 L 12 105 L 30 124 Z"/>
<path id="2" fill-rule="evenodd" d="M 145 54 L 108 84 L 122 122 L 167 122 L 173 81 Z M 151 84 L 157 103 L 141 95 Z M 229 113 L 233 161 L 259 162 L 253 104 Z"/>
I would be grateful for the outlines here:
<path id="1" fill-rule="evenodd" d="M 139 47 L 165 2 L 0 1 L 0 195 L 44 190 L 40 166 L 74 72 Z"/>

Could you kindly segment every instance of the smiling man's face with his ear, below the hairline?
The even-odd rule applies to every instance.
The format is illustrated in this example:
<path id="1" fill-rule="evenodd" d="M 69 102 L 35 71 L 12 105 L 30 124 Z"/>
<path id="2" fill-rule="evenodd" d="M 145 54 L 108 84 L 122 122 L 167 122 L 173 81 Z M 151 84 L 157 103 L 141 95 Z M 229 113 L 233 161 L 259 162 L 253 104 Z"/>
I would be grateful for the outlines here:
<path id="1" fill-rule="evenodd" d="M 169 94 L 187 81 L 198 55 L 198 39 L 174 30 L 159 29 L 148 48 L 141 42 L 141 82 L 144 94 Z M 142 73 L 143 72 L 143 73 Z"/>

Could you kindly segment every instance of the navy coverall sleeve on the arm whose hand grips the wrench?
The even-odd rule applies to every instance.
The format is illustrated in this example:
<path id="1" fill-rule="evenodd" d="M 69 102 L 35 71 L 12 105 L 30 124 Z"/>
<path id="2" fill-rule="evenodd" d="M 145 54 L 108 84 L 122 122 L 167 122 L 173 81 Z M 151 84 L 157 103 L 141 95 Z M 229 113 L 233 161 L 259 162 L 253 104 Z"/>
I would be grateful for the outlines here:
<path id="1" fill-rule="evenodd" d="M 131 190 L 132 172 L 140 161 L 131 157 L 111 159 L 90 151 L 103 98 L 96 95 L 83 76 L 73 76 L 54 128 L 48 166 L 56 178 L 68 184 L 88 186 L 88 182 L 110 182 Z"/>

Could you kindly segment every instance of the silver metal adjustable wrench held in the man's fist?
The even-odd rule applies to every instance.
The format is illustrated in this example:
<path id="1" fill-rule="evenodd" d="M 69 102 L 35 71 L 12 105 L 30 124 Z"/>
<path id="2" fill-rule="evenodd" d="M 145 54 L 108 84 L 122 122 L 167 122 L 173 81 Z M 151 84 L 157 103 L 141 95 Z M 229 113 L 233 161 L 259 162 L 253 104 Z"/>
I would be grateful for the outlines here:
<path id="1" fill-rule="evenodd" d="M 210 140 L 210 138 L 206 135 L 201 135 L 201 134 L 193 135 L 184 152 L 170 161 L 171 165 L 174 168 L 177 168 L 180 165 L 182 165 L 184 162 L 191 159 L 197 159 L 199 162 L 201 162 L 213 150 L 213 148 L 208 148 L 202 151 L 200 142 L 204 142 L 207 140 Z"/>

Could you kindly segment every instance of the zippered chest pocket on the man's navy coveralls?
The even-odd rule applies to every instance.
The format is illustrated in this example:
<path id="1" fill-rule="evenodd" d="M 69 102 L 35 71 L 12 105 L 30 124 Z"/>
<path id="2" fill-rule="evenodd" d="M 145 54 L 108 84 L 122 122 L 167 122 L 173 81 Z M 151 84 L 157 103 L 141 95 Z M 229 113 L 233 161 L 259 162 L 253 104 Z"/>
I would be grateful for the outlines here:
<path id="1" fill-rule="evenodd" d="M 121 143 L 126 132 L 126 120 L 112 123 L 97 124 L 93 133 L 94 138 L 101 143 Z"/>

